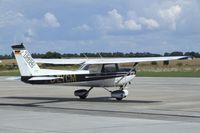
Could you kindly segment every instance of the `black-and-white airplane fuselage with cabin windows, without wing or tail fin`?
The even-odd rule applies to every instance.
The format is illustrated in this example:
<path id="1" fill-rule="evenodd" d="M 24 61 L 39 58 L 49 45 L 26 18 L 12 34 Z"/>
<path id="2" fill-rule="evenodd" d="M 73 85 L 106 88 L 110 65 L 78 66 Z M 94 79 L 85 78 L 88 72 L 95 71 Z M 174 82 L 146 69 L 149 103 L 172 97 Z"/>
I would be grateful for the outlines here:
<path id="1" fill-rule="evenodd" d="M 77 71 L 41 69 L 40 75 L 22 76 L 30 84 L 55 84 L 66 86 L 115 87 L 129 83 L 135 77 L 130 69 L 120 69 L 117 64 L 86 65 Z M 127 75 L 127 73 L 129 73 Z"/>

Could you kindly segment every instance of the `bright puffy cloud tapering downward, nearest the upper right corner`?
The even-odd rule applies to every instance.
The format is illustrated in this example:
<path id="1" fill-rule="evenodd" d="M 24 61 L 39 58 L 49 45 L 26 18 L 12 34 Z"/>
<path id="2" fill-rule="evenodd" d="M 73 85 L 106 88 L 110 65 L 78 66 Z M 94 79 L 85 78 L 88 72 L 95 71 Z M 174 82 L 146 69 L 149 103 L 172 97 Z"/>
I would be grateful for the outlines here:
<path id="1" fill-rule="evenodd" d="M 176 20 L 181 14 L 182 8 L 180 5 L 171 6 L 168 9 L 163 9 L 159 11 L 160 17 L 167 23 L 170 23 L 171 28 L 176 30 Z"/>

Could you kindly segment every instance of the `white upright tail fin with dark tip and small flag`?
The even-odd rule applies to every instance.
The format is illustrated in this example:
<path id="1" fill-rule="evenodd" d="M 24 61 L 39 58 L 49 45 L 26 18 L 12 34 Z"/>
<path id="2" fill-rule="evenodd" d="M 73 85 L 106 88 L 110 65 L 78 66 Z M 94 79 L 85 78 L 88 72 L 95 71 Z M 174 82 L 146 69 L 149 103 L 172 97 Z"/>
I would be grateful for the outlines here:
<path id="1" fill-rule="evenodd" d="M 12 46 L 21 76 L 32 76 L 39 72 L 40 68 L 25 49 L 23 43 Z"/>

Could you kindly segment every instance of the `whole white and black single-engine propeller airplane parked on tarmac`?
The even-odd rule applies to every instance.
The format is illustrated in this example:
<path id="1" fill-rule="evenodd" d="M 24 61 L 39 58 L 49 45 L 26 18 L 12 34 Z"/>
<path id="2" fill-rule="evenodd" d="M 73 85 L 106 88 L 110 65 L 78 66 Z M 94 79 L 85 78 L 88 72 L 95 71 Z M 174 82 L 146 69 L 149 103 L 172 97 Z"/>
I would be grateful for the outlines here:
<path id="1" fill-rule="evenodd" d="M 21 81 L 30 84 L 60 84 L 68 86 L 88 86 L 79 89 L 75 96 L 85 99 L 94 87 L 102 87 L 112 98 L 122 100 L 128 95 L 125 87 L 136 76 L 135 67 L 140 62 L 188 59 L 188 56 L 146 57 L 146 58 L 100 58 L 100 59 L 33 59 L 23 43 L 12 46 L 21 74 Z M 40 69 L 37 63 L 80 64 L 75 71 Z M 134 63 L 132 68 L 120 68 L 119 64 Z M 110 91 L 107 87 L 119 87 Z"/>

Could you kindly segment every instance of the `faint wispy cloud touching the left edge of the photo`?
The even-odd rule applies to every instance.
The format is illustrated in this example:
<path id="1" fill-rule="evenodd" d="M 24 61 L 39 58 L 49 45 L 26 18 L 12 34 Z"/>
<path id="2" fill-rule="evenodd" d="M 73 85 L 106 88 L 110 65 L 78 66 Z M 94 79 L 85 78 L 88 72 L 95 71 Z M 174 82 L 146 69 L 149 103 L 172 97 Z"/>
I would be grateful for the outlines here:
<path id="1" fill-rule="evenodd" d="M 18 25 L 23 22 L 24 15 L 20 12 L 7 11 L 0 14 L 0 28 Z"/>

